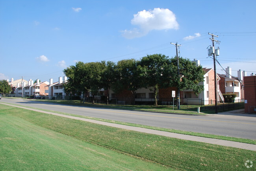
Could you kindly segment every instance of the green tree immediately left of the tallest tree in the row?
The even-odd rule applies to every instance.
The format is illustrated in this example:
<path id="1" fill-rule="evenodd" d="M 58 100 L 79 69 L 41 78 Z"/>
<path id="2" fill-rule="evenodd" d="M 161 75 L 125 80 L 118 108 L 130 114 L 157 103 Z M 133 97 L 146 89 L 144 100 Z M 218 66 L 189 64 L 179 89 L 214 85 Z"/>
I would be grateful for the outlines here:
<path id="1" fill-rule="evenodd" d="M 139 61 L 135 59 L 124 59 L 117 63 L 117 71 L 119 80 L 117 80 L 117 88 L 119 90 L 130 90 L 133 94 L 133 103 L 135 103 L 136 90 L 144 85 L 146 68 L 139 65 Z"/>

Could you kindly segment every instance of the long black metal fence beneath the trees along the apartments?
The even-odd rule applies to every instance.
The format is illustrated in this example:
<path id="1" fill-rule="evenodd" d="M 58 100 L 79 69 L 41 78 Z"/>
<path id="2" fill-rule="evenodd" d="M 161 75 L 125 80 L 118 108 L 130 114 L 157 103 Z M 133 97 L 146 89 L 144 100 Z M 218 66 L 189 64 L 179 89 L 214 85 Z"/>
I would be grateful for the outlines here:
<path id="1" fill-rule="evenodd" d="M 6 97 L 22 97 L 21 94 L 9 94 Z M 24 96 L 26 97 L 26 96 Z M 48 100 L 68 100 L 68 101 L 85 101 L 87 103 L 97 103 L 97 104 L 107 104 L 106 96 L 95 96 L 93 97 L 85 97 L 83 96 L 28 96 L 27 98 L 35 98 L 35 99 L 48 99 Z M 170 107 L 174 109 L 178 109 L 177 107 L 177 98 L 158 98 L 158 106 L 159 107 Z M 155 99 L 154 98 L 132 98 L 132 97 L 116 97 L 109 98 L 109 104 L 111 105 L 140 105 L 140 106 L 154 106 Z M 215 101 L 203 100 L 200 98 L 180 98 L 180 109 L 181 110 L 191 110 L 197 111 L 198 107 L 200 107 L 200 112 L 207 113 L 215 113 Z M 244 99 L 234 100 L 232 103 L 218 103 L 217 110 L 218 112 L 224 112 L 229 110 L 236 110 L 244 108 Z"/>

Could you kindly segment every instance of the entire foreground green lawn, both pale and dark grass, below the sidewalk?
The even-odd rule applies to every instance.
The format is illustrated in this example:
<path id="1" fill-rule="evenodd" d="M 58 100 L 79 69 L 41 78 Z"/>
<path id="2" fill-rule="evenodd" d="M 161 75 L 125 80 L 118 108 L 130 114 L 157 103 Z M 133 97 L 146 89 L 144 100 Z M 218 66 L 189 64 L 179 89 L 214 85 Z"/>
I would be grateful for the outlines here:
<path id="1" fill-rule="evenodd" d="M 34 169 L 33 167 L 37 167 L 35 165 L 41 165 L 37 168 L 43 169 L 44 164 L 46 166 L 52 165 L 56 169 L 74 169 L 72 167 L 77 166 L 75 169 L 141 170 L 142 167 L 147 170 L 151 167 L 133 163 L 134 161 L 138 162 L 137 160 L 149 160 L 160 164 L 153 163 L 154 167 L 158 168 L 154 169 L 152 166 L 149 170 L 165 169 L 161 165 L 165 165 L 169 169 L 180 170 L 245 170 L 247 169 L 245 161 L 256 162 L 255 151 L 128 131 L 6 105 L 0 105 L 0 117 L 0 128 L 4 130 L 0 133 L 0 145 L 4 147 L 0 148 L 1 154 L 4 154 L 0 157 L 0 168 L 3 165 L 4 170 L 21 166 Z M 62 133 L 60 134 L 62 138 L 56 136 L 57 132 Z M 30 133 L 33 133 L 33 136 Z M 44 136 L 41 134 L 44 134 Z M 45 138 L 45 135 L 50 136 L 50 139 Z M 134 156 L 134 161 L 131 159 L 131 162 L 129 162 L 127 159 L 127 168 L 116 166 L 119 162 L 116 163 L 115 159 L 105 158 L 103 160 L 99 156 L 93 156 L 96 149 L 94 149 L 94 146 L 85 146 L 88 144 L 87 142 L 96 145 L 95 147 L 98 148 L 111 149 L 111 152 Z M 74 147 L 71 145 L 73 143 Z M 70 147 L 66 148 L 63 144 L 70 145 Z M 40 151 L 41 148 L 37 147 L 42 147 L 44 150 Z M 68 152 L 65 149 L 74 151 Z M 84 149 L 84 152 L 78 153 L 81 149 Z M 74 157 L 71 157 L 72 155 L 70 156 L 69 153 Z M 81 153 L 86 153 L 84 154 L 86 157 Z M 107 152 L 101 153 L 102 157 L 106 157 L 104 154 Z M 49 158 L 49 160 L 46 161 L 46 158 Z M 117 158 L 119 157 L 117 156 Z M 109 166 L 103 168 L 99 161 L 103 161 Z M 125 163 L 126 159 L 123 161 Z M 98 164 L 93 167 L 93 162 L 98 162 Z M 58 165 L 59 163 L 61 165 Z M 146 163 L 152 164 L 150 162 Z M 131 165 L 134 165 L 134 167 L 130 168 Z M 46 169 L 52 170 L 52 166 L 46 167 Z M 254 165 L 252 169 L 255 169 Z"/>

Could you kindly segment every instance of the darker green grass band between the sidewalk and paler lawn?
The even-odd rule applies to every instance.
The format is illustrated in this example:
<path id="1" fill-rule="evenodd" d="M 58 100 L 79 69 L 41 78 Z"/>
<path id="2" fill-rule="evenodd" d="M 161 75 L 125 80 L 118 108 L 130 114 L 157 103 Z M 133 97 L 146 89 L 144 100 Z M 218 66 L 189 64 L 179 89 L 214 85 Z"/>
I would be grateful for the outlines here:
<path id="1" fill-rule="evenodd" d="M 84 142 L 151 160 L 174 169 L 245 170 L 245 161 L 256 162 L 255 151 L 145 134 L 6 105 L 0 105 L 0 109 L 1 115 L 17 116 Z"/>

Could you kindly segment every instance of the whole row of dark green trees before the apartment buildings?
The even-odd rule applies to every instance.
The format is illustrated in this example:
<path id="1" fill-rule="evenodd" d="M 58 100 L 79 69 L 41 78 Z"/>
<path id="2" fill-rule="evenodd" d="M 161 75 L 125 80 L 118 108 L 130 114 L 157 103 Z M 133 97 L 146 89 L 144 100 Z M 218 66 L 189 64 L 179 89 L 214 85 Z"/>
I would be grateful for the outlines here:
<path id="1" fill-rule="evenodd" d="M 189 59 L 179 58 L 180 75 L 177 75 L 177 59 L 162 54 L 147 55 L 140 60 L 124 59 L 114 63 L 101 61 L 77 62 L 63 72 L 67 76 L 64 84 L 66 93 L 78 94 L 91 91 L 93 94 L 104 88 L 119 93 L 129 90 L 134 95 L 139 88 L 154 91 L 155 105 L 159 88 L 178 87 L 180 90 L 192 89 L 195 94 L 202 92 L 198 83 L 204 80 L 202 66 Z"/>

